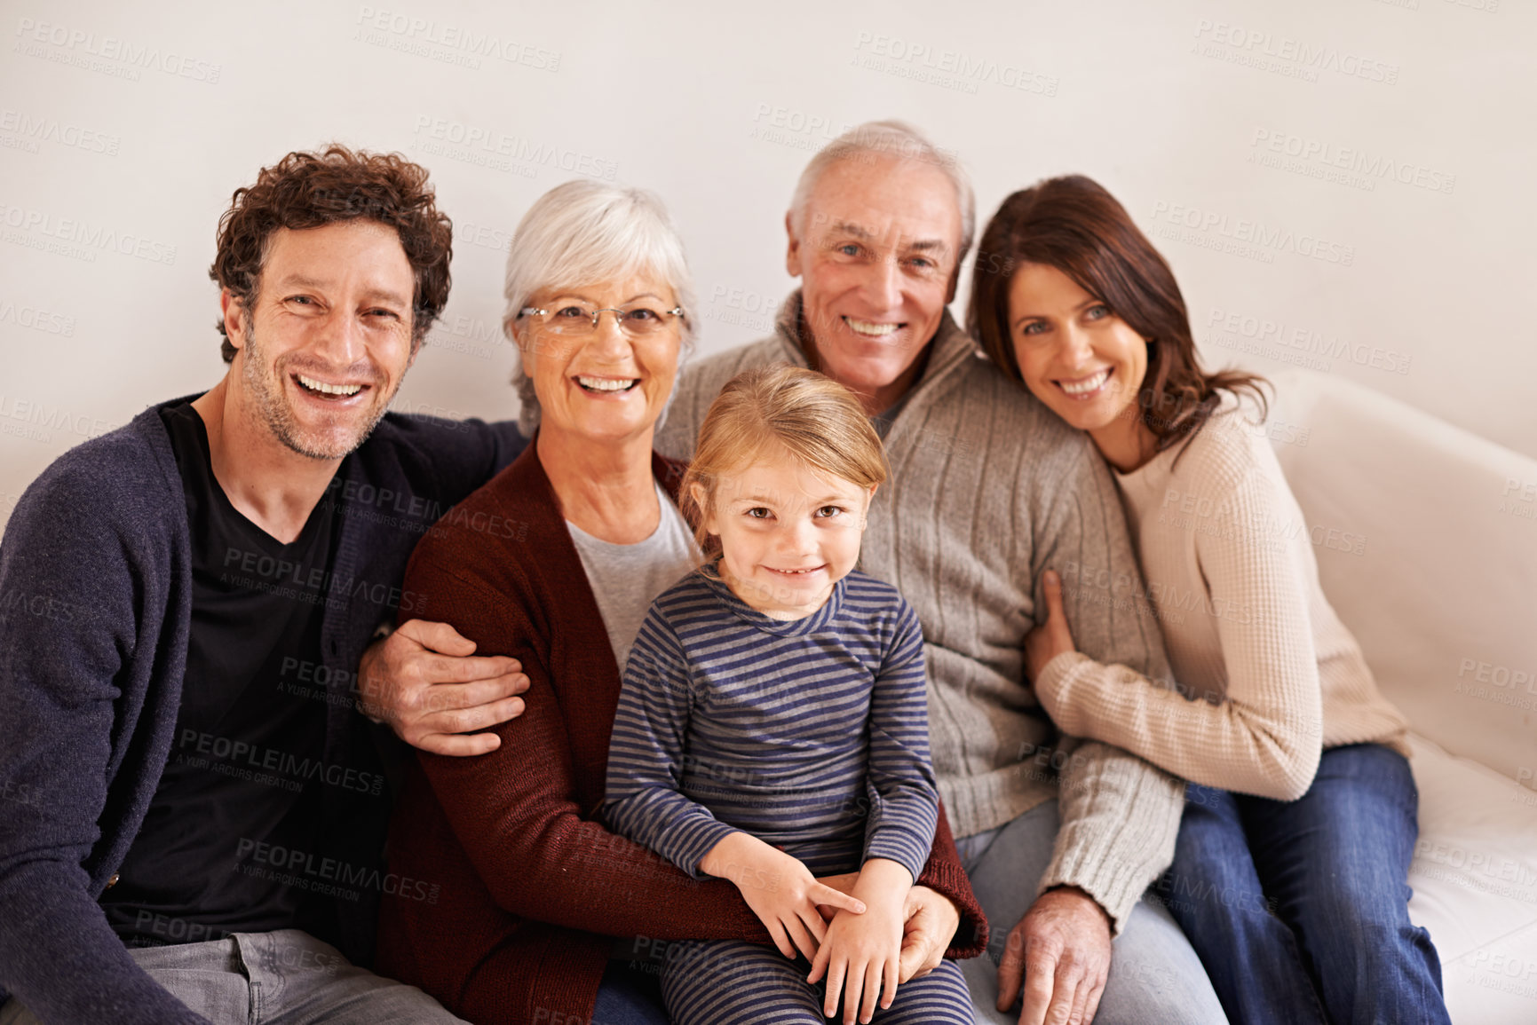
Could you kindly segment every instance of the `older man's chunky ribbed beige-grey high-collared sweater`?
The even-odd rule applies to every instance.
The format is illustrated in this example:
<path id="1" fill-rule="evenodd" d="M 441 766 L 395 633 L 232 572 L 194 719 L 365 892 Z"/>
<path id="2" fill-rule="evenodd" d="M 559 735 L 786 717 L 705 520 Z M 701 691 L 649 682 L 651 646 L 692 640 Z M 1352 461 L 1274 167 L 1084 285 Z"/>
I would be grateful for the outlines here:
<path id="1" fill-rule="evenodd" d="M 686 367 L 656 449 L 692 455 L 705 410 L 739 370 L 807 366 L 799 320 L 796 292 L 773 338 Z M 876 493 L 861 567 L 895 584 L 922 622 L 934 773 L 954 833 L 1059 798 L 1062 828 L 1041 890 L 1082 887 L 1119 933 L 1173 861 L 1183 782 L 1122 750 L 1062 738 L 1025 684 L 1022 649 L 1045 616 L 1048 567 L 1139 579 L 1110 472 L 1085 435 L 993 367 L 948 313 L 885 450 L 893 479 Z M 1077 593 L 1068 615 L 1081 650 L 1100 662 L 1168 675 L 1156 622 L 1108 592 Z"/>

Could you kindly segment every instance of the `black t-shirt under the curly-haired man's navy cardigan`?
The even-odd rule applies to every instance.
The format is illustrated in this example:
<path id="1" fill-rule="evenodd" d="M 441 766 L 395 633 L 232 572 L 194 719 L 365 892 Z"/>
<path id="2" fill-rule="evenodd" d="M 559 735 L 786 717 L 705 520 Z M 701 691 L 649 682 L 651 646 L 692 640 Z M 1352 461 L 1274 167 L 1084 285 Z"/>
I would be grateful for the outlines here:
<path id="1" fill-rule="evenodd" d="M 326 701 L 297 681 L 321 664 L 337 506 L 277 541 L 214 478 L 197 410 L 160 415 L 192 533 L 192 635 L 164 773 L 101 905 L 131 947 L 314 931 L 323 902 L 300 867 L 320 857 Z"/>

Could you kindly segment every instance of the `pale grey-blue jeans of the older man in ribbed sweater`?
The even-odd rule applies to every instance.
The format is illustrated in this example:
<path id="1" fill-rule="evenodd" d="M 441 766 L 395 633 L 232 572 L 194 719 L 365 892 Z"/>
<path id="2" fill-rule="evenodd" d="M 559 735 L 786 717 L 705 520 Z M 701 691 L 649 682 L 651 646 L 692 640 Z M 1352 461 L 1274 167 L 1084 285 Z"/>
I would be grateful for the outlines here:
<path id="1" fill-rule="evenodd" d="M 996 1008 L 998 962 L 1010 930 L 1034 904 L 1036 884 L 1051 862 L 1057 824 L 1057 804 L 1048 801 L 1007 825 L 956 841 L 991 930 L 987 953 L 961 962 L 978 1022 L 1019 1020 L 1017 1000 L 1008 1014 Z M 1094 1025 L 1227 1025 L 1227 1020 L 1190 940 L 1162 904 L 1144 896 L 1114 940 Z"/>

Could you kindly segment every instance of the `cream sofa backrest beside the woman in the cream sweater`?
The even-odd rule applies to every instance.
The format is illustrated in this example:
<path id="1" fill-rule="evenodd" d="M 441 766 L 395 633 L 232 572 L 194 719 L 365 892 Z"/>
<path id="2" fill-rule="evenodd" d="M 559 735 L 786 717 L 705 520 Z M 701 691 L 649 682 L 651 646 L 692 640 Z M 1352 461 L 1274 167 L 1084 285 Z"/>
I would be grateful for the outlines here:
<path id="1" fill-rule="evenodd" d="M 1377 685 L 1537 787 L 1537 459 L 1336 376 L 1274 383 L 1270 436 Z"/>

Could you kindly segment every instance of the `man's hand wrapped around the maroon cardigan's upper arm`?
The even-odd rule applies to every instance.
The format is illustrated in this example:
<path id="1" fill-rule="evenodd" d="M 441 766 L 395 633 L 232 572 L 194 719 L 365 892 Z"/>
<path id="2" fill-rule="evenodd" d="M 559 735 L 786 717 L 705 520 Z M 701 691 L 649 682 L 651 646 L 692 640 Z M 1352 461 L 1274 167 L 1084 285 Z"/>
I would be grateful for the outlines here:
<path id="1" fill-rule="evenodd" d="M 363 653 L 358 708 L 424 751 L 493 751 L 501 738 L 475 731 L 521 715 L 529 678 L 518 659 L 473 655 L 449 624 L 410 619 Z"/>

